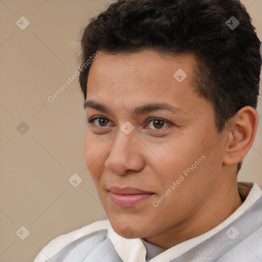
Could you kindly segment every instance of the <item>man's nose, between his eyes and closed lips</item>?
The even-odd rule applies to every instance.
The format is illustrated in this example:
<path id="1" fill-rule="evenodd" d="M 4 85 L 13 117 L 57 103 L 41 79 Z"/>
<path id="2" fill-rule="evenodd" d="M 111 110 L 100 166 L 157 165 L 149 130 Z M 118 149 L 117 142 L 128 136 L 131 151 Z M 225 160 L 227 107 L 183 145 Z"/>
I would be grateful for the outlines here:
<path id="1" fill-rule="evenodd" d="M 143 143 L 133 132 L 126 135 L 120 130 L 112 144 L 110 154 L 106 159 L 105 168 L 115 174 L 124 175 L 129 171 L 139 172 L 144 168 Z"/>

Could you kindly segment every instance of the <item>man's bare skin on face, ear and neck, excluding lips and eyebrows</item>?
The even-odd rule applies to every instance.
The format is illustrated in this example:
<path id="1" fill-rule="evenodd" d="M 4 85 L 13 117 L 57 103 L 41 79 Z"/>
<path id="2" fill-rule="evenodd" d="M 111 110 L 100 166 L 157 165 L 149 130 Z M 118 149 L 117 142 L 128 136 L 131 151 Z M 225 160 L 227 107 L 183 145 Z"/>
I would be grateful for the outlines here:
<path id="1" fill-rule="evenodd" d="M 254 141 L 257 115 L 246 106 L 218 133 L 212 104 L 192 88 L 197 66 L 192 54 L 171 57 L 150 50 L 102 52 L 92 63 L 86 101 L 111 112 L 86 106 L 88 120 L 102 118 L 86 127 L 86 165 L 113 229 L 123 237 L 144 238 L 168 249 L 211 230 L 242 205 L 236 165 Z M 187 74 L 181 83 L 173 77 L 178 69 Z M 179 109 L 132 113 L 155 103 Z M 152 117 L 166 123 L 148 121 Z M 135 127 L 129 135 L 121 129 L 126 121 Z M 152 202 L 202 155 L 205 160 L 154 207 Z M 120 208 L 111 199 L 110 186 L 154 194 Z"/>

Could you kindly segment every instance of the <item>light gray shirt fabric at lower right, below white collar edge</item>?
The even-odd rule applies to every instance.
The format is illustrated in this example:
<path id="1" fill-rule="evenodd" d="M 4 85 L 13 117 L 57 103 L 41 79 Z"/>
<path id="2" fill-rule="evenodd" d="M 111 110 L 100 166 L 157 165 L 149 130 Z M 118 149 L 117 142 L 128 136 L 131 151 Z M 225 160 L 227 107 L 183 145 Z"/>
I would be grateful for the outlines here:
<path id="1" fill-rule="evenodd" d="M 262 197 L 225 229 L 170 262 L 184 261 L 261 262 Z"/>

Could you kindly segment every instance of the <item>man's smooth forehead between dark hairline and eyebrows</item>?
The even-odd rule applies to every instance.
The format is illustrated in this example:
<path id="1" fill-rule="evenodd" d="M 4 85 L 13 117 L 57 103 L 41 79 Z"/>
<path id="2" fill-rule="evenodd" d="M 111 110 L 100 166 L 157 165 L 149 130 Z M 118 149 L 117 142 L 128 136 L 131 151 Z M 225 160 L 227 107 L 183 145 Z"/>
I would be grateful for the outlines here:
<path id="1" fill-rule="evenodd" d="M 197 66 L 191 54 L 102 52 L 91 65 L 86 100 L 109 101 L 118 110 L 156 101 L 186 105 L 197 96 L 192 88 Z"/>

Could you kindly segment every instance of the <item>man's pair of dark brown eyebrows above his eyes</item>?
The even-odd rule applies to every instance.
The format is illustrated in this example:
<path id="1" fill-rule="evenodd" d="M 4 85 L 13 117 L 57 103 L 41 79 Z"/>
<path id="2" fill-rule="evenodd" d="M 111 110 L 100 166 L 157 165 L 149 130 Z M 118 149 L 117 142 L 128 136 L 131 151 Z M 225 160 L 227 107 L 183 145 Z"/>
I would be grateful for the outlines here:
<path id="1" fill-rule="evenodd" d="M 98 110 L 98 111 L 101 111 L 107 114 L 114 114 L 113 111 L 110 110 L 110 108 L 108 108 L 106 105 L 97 103 L 94 100 L 89 100 L 89 101 L 84 102 L 84 109 L 87 109 L 87 108 L 93 108 L 95 110 Z M 187 114 L 186 112 L 182 111 L 180 108 L 176 106 L 172 106 L 168 103 L 145 104 L 145 105 L 134 108 L 131 111 L 131 113 L 133 115 L 142 115 L 148 112 L 153 112 L 153 111 L 158 111 L 158 110 L 169 110 L 173 114 L 177 114 L 179 112 Z"/>

